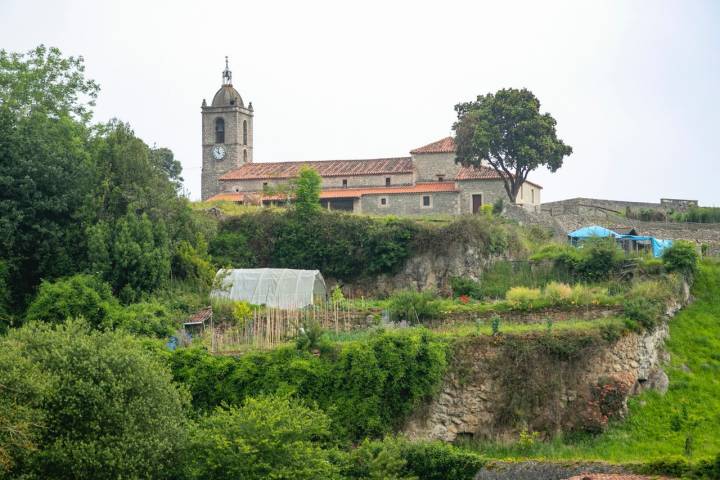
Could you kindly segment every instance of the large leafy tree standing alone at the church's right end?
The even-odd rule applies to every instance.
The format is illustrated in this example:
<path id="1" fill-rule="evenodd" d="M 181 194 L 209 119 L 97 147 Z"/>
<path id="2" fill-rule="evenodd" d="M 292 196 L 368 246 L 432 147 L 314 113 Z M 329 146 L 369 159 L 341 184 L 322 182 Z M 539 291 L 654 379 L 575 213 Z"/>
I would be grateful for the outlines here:
<path id="1" fill-rule="evenodd" d="M 459 103 L 455 111 L 457 162 L 490 165 L 513 203 L 531 171 L 545 166 L 555 172 L 572 153 L 557 137 L 555 119 L 540 113 L 540 101 L 530 90 L 507 88 L 479 95 L 474 102 Z"/>

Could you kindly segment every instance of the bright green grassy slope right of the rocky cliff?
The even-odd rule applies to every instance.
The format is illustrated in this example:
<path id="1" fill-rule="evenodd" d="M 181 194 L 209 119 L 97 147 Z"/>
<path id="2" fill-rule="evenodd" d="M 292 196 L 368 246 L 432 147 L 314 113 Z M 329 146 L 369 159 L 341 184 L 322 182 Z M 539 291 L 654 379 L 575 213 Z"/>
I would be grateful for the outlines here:
<path id="1" fill-rule="evenodd" d="M 683 456 L 691 437 L 689 459 L 713 458 L 720 452 L 720 264 L 701 266 L 693 293 L 695 302 L 670 324 L 666 395 L 647 392 L 631 400 L 628 420 L 595 438 L 473 447 L 495 458 L 625 462 Z"/>

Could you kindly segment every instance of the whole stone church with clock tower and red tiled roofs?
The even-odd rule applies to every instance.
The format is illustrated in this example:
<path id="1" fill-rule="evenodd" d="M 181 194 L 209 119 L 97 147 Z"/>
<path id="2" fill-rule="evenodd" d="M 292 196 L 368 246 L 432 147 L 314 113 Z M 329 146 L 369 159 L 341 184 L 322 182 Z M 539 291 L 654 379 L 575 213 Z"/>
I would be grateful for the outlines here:
<path id="1" fill-rule="evenodd" d="M 253 105 L 232 85 L 227 58 L 222 86 L 202 102 L 202 199 L 245 205 L 282 203 L 282 185 L 303 166 L 322 177 L 320 202 L 330 210 L 375 215 L 477 213 L 507 193 L 492 168 L 455 163 L 452 137 L 410 150 L 410 156 L 366 160 L 255 162 Z M 539 210 L 542 187 L 526 181 L 516 204 Z"/>

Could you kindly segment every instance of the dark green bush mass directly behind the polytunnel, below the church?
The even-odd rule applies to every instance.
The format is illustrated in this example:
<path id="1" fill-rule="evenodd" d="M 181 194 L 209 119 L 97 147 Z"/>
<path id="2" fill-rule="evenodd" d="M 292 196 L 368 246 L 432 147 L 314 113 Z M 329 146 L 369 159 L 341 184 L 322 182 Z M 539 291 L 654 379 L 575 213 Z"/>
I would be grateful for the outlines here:
<path id="1" fill-rule="evenodd" d="M 350 279 L 400 268 L 417 228 L 408 220 L 261 211 L 223 223 L 210 253 L 222 265 L 319 269 Z"/>

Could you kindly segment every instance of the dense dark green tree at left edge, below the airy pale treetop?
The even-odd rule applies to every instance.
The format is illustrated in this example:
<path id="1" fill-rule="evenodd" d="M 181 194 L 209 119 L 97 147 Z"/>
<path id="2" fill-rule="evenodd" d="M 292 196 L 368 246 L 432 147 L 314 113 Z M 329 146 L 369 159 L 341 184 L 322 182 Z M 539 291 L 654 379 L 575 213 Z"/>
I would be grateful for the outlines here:
<path id="1" fill-rule="evenodd" d="M 41 278 L 83 267 L 92 178 L 87 138 L 67 116 L 35 111 L 18 118 L 0 106 L 0 252 L 16 308 Z"/>

